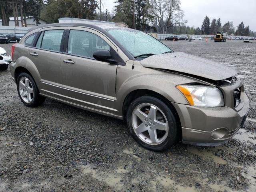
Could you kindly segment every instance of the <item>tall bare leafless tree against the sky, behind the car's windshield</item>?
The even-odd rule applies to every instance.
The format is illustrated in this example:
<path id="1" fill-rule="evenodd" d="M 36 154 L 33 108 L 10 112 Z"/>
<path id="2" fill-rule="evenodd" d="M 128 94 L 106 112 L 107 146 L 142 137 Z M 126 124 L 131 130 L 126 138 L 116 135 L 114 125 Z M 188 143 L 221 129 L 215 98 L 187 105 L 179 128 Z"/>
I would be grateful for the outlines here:
<path id="1" fill-rule="evenodd" d="M 175 25 L 183 25 L 184 12 L 180 8 L 180 0 L 150 0 L 150 12 L 154 15 L 162 33 Z"/>

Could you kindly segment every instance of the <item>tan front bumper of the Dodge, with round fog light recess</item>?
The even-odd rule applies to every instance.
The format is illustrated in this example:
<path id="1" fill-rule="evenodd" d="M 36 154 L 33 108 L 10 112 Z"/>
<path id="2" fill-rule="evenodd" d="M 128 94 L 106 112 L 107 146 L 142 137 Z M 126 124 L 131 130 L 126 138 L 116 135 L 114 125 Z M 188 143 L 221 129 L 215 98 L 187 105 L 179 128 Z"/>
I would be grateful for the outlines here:
<path id="1" fill-rule="evenodd" d="M 233 103 L 228 102 L 232 99 L 228 98 L 228 92 L 236 86 L 241 88 L 242 96 L 240 105 L 233 107 Z M 230 106 L 207 108 L 172 103 L 180 118 L 183 143 L 199 146 L 221 145 L 243 127 L 249 111 L 249 99 L 243 92 L 242 82 L 230 86 L 230 90 L 228 86 L 220 89 L 226 89 L 225 104 Z"/>

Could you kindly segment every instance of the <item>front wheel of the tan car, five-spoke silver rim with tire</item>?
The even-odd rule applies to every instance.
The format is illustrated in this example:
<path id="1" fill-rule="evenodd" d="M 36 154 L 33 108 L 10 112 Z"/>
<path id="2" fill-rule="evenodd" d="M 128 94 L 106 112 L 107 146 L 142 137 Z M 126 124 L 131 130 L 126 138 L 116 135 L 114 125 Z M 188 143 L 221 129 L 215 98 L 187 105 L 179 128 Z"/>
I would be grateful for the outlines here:
<path id="1" fill-rule="evenodd" d="M 128 108 L 130 133 L 144 148 L 163 151 L 178 142 L 179 124 L 174 109 L 153 96 L 136 98 Z"/>

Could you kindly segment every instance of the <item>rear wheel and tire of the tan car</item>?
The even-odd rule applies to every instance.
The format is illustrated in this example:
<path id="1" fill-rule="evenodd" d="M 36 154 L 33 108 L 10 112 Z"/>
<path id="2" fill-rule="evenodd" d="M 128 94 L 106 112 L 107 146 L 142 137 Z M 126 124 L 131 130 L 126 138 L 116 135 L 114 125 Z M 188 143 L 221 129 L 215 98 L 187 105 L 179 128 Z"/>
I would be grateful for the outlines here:
<path id="1" fill-rule="evenodd" d="M 32 76 L 21 73 L 17 78 L 17 90 L 20 100 L 28 107 L 41 105 L 45 98 L 39 94 L 39 90 Z"/>

